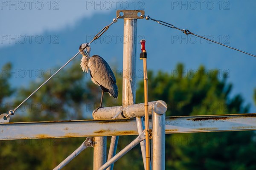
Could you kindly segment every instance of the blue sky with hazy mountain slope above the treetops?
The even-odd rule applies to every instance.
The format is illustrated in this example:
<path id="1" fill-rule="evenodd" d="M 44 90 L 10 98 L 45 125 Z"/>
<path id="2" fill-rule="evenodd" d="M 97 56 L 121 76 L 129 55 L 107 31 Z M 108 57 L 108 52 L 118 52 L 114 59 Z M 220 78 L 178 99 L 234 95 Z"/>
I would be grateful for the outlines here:
<path id="1" fill-rule="evenodd" d="M 0 1 L 0 66 L 13 63 L 14 87 L 40 80 L 52 68 L 62 66 L 79 45 L 108 25 L 117 9 L 140 9 L 195 34 L 256 54 L 256 1 Z M 256 59 L 221 45 L 186 36 L 153 21 L 138 20 L 137 41 L 145 39 L 148 69 L 173 73 L 178 62 L 186 73 L 205 65 L 228 73 L 232 95 L 241 94 L 256 112 Z M 91 54 L 104 57 L 112 67 L 122 69 L 123 20 L 118 20 L 91 45 Z M 137 43 L 140 53 L 140 45 Z M 138 57 L 138 56 L 137 56 Z M 78 56 L 77 58 L 81 58 Z M 137 72 L 142 63 L 137 59 Z M 48 73 L 49 73 L 48 72 Z M 25 75 L 23 75 L 23 73 Z M 30 75 L 31 73 L 31 75 Z M 220 78 L 222 74 L 219 75 Z M 24 97 L 25 98 L 25 97 Z"/>

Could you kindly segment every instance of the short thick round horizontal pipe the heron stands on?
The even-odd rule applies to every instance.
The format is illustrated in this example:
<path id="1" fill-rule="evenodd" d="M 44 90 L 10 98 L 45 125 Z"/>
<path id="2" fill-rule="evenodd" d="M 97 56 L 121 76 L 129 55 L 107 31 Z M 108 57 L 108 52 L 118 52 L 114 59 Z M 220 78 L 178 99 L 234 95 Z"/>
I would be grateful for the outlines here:
<path id="1" fill-rule="evenodd" d="M 123 119 L 145 116 L 145 104 L 139 103 L 128 106 L 114 106 L 107 108 L 100 108 L 93 113 L 93 119 Z M 165 113 L 167 110 L 166 102 L 162 100 L 148 102 L 148 113 L 152 115 L 152 111 L 156 113 Z M 117 116 L 118 115 L 118 116 Z"/>

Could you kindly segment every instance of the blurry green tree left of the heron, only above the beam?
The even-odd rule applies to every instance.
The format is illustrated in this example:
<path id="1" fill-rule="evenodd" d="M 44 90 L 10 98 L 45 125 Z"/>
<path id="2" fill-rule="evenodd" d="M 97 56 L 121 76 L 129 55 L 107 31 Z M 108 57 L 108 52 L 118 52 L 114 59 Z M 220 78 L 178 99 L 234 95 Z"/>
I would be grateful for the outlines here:
<path id="1" fill-rule="evenodd" d="M 54 69 L 52 69 L 54 70 Z M 51 75 L 44 74 L 41 81 L 20 88 L 16 104 L 22 102 Z M 29 121 L 84 119 L 86 103 L 95 103 L 98 89 L 86 80 L 90 75 L 81 71 L 79 61 L 55 75 L 25 103 Z M 89 108 L 92 109 L 92 108 Z M 90 117 L 90 116 L 89 116 Z"/>

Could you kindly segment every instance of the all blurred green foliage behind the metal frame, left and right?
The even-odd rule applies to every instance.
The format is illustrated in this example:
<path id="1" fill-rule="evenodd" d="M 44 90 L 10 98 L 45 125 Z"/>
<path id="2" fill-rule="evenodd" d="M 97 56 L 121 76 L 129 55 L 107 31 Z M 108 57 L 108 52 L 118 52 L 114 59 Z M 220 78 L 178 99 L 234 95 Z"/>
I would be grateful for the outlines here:
<path id="1" fill-rule="evenodd" d="M 3 69 L 11 69 L 10 63 Z M 237 94 L 230 97 L 232 84 L 227 75 L 214 70 L 209 75 L 200 66 L 197 74 L 183 74 L 184 65 L 177 64 L 177 74 L 148 72 L 149 101 L 163 100 L 168 105 L 166 116 L 212 115 L 247 113 L 250 105 L 244 104 Z M 119 98 L 105 95 L 103 105 L 121 105 L 122 76 L 116 74 Z M 41 85 L 32 81 L 26 88 L 11 88 L 11 75 L 1 77 L 1 103 L 19 104 L 24 96 Z M 11 117 L 12 122 L 90 119 L 91 112 L 99 105 L 100 88 L 84 74 L 76 60 L 57 74 L 43 88 L 26 102 L 23 113 Z M 137 77 L 136 102 L 143 102 L 143 79 Z M 254 91 L 256 101 L 256 91 Z M 96 105 L 95 105 L 96 104 Z M 3 106 L 3 107 L 2 107 Z M 29 107 L 31 106 L 31 107 Z M 40 106 L 40 107 L 38 107 Z M 0 113 L 13 109 L 14 105 L 1 105 Z M 3 137 L 3 136 L 2 136 Z M 120 136 L 118 149 L 121 150 L 135 136 Z M 70 155 L 84 138 L 29 139 L 0 142 L 0 167 L 3 170 L 46 170 L 53 169 Z M 110 138 L 108 137 L 108 145 Z M 256 169 L 255 131 L 184 133 L 166 135 L 166 169 L 174 170 L 254 170 Z M 64 170 L 93 169 L 93 149 L 87 148 Z M 114 165 L 114 169 L 143 169 L 140 146 L 135 147 Z"/>

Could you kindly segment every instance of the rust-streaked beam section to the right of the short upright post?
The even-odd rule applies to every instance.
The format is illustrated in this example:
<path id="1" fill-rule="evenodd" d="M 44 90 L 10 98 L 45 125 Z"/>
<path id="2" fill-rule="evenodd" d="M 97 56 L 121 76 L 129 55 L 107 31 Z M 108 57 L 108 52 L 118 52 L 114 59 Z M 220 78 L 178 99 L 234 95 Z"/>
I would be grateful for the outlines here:
<path id="1" fill-rule="evenodd" d="M 256 130 L 256 113 L 166 118 L 166 133 Z"/>

